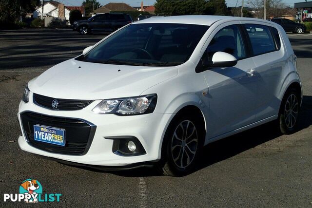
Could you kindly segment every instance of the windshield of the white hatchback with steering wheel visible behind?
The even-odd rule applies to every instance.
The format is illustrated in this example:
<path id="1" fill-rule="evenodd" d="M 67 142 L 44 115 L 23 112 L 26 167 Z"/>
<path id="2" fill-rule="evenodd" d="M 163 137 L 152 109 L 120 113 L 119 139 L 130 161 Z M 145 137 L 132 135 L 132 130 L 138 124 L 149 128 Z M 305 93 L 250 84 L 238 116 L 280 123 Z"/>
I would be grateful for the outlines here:
<path id="1" fill-rule="evenodd" d="M 77 60 L 119 65 L 176 66 L 187 61 L 209 26 L 131 24 Z"/>

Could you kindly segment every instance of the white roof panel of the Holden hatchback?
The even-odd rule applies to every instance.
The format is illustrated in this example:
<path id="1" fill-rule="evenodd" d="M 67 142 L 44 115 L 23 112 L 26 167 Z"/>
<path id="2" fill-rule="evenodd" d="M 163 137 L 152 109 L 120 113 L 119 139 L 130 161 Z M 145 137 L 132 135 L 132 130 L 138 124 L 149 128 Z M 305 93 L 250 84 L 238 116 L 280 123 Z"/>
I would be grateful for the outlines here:
<path id="1" fill-rule="evenodd" d="M 185 15 L 185 16 L 170 16 L 170 17 L 157 17 L 157 18 L 149 18 L 143 19 L 139 22 L 134 22 L 133 24 L 141 24 L 141 23 L 181 23 L 181 24 L 199 24 L 199 25 L 212 25 L 216 21 L 222 19 L 229 20 L 256 20 L 256 21 L 264 21 L 263 19 L 254 19 L 254 18 L 239 18 L 239 17 L 231 17 L 231 16 L 211 16 L 211 15 Z"/>

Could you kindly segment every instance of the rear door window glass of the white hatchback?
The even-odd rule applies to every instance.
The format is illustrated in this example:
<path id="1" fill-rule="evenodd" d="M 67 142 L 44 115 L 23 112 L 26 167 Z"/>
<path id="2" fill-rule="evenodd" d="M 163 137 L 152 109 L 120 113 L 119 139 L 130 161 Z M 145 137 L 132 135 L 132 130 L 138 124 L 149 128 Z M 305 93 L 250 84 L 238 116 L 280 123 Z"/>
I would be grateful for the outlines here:
<path id="1" fill-rule="evenodd" d="M 273 37 L 268 26 L 245 24 L 254 55 L 265 54 L 276 50 Z"/>

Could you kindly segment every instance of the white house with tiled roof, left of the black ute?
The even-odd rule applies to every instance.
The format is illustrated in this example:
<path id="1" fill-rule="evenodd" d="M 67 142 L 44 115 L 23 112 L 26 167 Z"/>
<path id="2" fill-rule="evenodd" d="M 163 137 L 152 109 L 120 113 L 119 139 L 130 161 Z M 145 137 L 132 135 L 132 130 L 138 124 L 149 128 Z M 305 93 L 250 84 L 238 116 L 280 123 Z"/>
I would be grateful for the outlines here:
<path id="1" fill-rule="evenodd" d="M 43 4 L 43 17 L 65 19 L 69 24 L 69 13 L 72 10 L 79 10 L 84 17 L 84 6 L 65 6 L 54 0 L 45 0 Z M 42 7 L 39 6 L 33 13 L 34 18 L 41 17 Z"/>

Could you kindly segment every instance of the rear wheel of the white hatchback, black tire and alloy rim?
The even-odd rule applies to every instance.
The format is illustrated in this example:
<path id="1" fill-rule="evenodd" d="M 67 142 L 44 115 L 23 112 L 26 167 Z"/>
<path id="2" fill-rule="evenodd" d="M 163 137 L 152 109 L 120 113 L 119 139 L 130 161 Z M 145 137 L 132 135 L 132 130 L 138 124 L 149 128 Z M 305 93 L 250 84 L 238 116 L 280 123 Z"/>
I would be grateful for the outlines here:
<path id="1" fill-rule="evenodd" d="M 292 134 L 296 132 L 300 113 L 300 93 L 294 89 L 289 89 L 283 97 L 278 114 L 278 124 L 280 132 Z"/>

